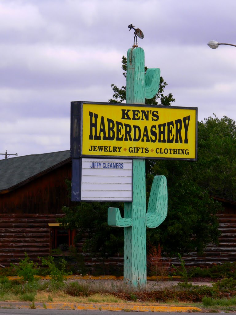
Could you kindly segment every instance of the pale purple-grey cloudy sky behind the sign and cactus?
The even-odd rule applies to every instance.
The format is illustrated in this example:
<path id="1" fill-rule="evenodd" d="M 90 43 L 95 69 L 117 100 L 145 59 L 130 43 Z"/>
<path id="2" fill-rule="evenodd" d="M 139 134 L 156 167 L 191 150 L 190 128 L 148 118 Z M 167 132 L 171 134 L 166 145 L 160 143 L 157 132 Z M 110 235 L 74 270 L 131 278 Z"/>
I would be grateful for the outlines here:
<path id="1" fill-rule="evenodd" d="M 108 102 L 144 33 L 175 106 L 236 120 L 235 0 L 0 0 L 0 153 L 70 149 L 70 101 Z M 0 155 L 0 158 L 4 158 Z"/>

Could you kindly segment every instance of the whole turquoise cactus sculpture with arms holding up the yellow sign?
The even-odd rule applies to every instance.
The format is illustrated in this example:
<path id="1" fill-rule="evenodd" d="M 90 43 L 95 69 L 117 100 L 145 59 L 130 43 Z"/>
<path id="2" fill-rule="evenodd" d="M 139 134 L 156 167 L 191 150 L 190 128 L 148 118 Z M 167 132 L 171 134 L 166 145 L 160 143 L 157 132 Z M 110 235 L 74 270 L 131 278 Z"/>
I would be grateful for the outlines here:
<path id="1" fill-rule="evenodd" d="M 159 89 L 160 69 L 144 73 L 144 51 L 133 47 L 127 52 L 126 103 L 144 104 Z M 145 160 L 133 160 L 133 201 L 126 202 L 124 218 L 118 208 L 108 209 L 108 224 L 124 227 L 124 279 L 133 285 L 146 284 L 146 226 L 159 226 L 167 215 L 165 176 L 155 176 L 146 213 Z"/>

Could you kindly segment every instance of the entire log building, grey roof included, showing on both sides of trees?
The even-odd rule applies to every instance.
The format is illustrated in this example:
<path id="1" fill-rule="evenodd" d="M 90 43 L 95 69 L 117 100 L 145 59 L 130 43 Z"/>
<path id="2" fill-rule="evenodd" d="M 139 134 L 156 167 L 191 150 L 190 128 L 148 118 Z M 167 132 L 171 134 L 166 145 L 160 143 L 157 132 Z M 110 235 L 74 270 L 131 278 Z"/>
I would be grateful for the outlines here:
<path id="1" fill-rule="evenodd" d="M 71 179 L 70 151 L 26 155 L 0 160 L 0 264 L 9 266 L 29 257 L 48 256 L 52 249 L 66 251 L 75 245 L 75 230 L 64 229 L 56 222 L 62 206 L 70 206 L 66 179 Z M 183 257 L 186 266 L 209 266 L 236 261 L 236 202 L 214 197 L 222 202 L 218 214 L 219 246 L 209 244 L 203 256 L 191 253 Z M 81 244 L 77 244 L 81 250 Z M 85 254 L 91 266 L 99 263 Z M 171 262 L 178 265 L 178 259 Z M 121 266 L 122 257 L 110 257 L 110 266 Z"/>

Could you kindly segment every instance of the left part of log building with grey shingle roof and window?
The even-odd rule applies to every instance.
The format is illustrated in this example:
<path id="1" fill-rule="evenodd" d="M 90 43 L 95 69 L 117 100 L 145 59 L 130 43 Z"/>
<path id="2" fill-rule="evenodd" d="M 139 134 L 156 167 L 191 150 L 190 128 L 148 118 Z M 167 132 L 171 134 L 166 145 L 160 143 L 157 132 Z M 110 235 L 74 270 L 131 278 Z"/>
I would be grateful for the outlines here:
<path id="1" fill-rule="evenodd" d="M 0 160 L 0 264 L 72 245 L 73 231 L 56 222 L 70 205 L 65 179 L 71 179 L 69 150 Z"/>

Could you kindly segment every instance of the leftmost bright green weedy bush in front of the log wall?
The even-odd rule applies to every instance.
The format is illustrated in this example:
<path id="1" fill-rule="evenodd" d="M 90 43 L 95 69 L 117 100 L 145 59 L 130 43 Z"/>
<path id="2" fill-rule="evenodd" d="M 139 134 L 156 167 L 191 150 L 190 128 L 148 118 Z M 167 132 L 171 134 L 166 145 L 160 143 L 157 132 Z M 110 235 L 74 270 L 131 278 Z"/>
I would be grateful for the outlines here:
<path id="1" fill-rule="evenodd" d="M 23 277 L 24 281 L 33 281 L 34 276 L 37 275 L 37 263 L 30 260 L 29 256 L 25 253 L 25 259 L 20 259 L 17 265 L 11 264 L 15 268 L 16 274 Z"/>

